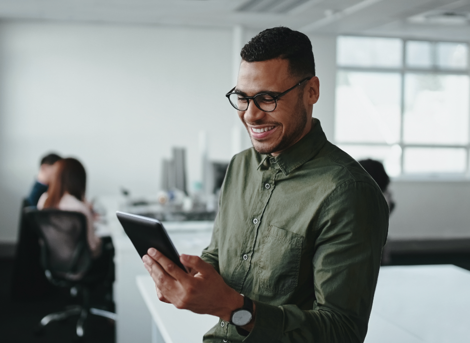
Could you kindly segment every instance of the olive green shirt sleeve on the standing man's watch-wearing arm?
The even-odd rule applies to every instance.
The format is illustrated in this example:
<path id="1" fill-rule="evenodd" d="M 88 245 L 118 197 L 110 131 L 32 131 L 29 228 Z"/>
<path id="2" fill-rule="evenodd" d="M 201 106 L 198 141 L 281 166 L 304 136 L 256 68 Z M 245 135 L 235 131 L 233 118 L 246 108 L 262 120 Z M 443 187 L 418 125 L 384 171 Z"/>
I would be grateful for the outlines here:
<path id="1" fill-rule="evenodd" d="M 375 186 L 353 181 L 337 187 L 314 228 L 313 308 L 255 301 L 255 325 L 243 342 L 363 342 L 388 215 L 387 203 Z"/>

